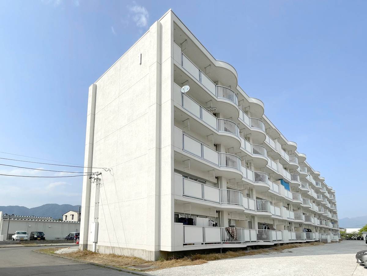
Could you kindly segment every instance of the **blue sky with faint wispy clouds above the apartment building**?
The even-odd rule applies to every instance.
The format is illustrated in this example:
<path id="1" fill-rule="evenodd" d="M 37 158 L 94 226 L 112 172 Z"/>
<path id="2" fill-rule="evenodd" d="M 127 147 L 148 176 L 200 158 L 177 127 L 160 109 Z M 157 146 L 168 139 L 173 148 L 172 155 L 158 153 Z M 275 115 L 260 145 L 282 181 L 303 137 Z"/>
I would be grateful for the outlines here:
<path id="1" fill-rule="evenodd" d="M 0 1 L 0 151 L 83 164 L 88 87 L 169 8 L 334 187 L 339 218 L 365 215 L 366 1 Z M 0 183 L 0 205 L 80 204 L 81 178 Z"/>

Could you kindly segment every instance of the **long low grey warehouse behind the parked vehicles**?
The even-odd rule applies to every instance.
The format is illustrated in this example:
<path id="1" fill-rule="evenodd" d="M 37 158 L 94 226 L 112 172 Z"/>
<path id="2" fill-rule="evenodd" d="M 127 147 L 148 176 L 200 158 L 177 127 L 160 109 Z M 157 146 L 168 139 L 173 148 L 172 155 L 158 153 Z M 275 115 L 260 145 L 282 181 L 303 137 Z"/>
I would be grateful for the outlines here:
<path id="1" fill-rule="evenodd" d="M 0 211 L 0 240 L 11 239 L 15 231 L 43 232 L 46 240 L 61 240 L 71 232 L 79 232 L 80 222 L 58 221 L 49 217 L 6 216 Z M 7 238 L 8 234 L 8 238 Z"/>

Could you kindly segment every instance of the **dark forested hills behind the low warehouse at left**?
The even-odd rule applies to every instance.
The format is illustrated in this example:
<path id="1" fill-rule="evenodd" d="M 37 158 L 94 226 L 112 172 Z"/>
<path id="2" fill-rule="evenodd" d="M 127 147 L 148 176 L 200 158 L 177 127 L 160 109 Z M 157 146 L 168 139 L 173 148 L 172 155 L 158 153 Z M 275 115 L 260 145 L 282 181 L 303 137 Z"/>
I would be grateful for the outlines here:
<path id="1" fill-rule="evenodd" d="M 80 205 L 70 204 L 44 204 L 39 207 L 27 208 L 24 206 L 0 206 L 3 214 L 14 214 L 18 216 L 51 216 L 54 219 L 62 218 L 66 212 L 73 210 L 78 211 Z"/>

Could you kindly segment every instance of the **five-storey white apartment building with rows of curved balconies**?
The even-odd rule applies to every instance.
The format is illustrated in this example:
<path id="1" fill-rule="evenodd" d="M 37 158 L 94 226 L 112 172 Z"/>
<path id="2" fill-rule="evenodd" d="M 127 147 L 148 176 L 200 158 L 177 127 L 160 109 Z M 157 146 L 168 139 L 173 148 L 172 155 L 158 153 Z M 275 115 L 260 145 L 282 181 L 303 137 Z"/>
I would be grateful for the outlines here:
<path id="1" fill-rule="evenodd" d="M 171 10 L 90 86 L 85 165 L 111 170 L 83 180 L 81 249 L 339 238 L 333 188 Z"/>

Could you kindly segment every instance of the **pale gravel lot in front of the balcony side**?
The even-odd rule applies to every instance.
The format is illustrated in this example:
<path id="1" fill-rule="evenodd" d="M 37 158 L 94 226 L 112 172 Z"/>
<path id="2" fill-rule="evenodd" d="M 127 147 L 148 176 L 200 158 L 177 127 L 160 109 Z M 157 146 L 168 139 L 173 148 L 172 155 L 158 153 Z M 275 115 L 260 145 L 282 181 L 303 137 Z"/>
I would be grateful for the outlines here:
<path id="1" fill-rule="evenodd" d="M 356 252 L 367 249 L 364 241 L 341 241 L 180 266 L 149 272 L 152 275 L 262 275 L 262 276 L 367 276 L 367 268 L 356 263 Z"/>

